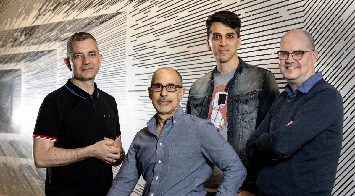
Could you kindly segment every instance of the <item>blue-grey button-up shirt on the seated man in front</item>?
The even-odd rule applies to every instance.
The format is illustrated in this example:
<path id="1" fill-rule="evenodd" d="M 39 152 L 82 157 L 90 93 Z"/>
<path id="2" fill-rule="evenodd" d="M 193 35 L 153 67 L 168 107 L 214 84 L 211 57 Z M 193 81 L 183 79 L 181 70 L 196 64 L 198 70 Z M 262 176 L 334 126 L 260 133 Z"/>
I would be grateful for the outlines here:
<path id="1" fill-rule="evenodd" d="M 155 115 L 136 134 L 108 195 L 129 196 L 143 175 L 143 196 L 204 196 L 214 165 L 224 171 L 216 195 L 237 194 L 246 169 L 211 121 L 179 107 L 160 135 L 156 124 Z"/>

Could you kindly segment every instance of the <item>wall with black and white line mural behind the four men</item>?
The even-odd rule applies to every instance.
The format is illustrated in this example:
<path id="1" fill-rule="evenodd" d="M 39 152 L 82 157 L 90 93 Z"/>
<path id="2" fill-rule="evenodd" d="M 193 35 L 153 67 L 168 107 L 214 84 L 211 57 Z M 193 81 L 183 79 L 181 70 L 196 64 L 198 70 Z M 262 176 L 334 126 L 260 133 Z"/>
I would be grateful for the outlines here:
<path id="1" fill-rule="evenodd" d="M 286 85 L 275 53 L 281 37 L 294 28 L 313 35 L 319 51 L 316 71 L 322 71 L 344 100 L 343 147 L 332 195 L 353 195 L 354 0 L 1 1 L 0 93 L 9 94 L 1 97 L 9 103 L 0 107 L 0 171 L 3 176 L 28 173 L 18 175 L 18 181 L 34 183 L 10 187 L 9 181 L 0 180 L 0 195 L 44 194 L 45 170 L 31 164 L 31 134 L 43 98 L 71 77 L 64 58 L 73 33 L 86 31 L 97 39 L 103 62 L 95 82 L 117 101 L 127 151 L 136 132 L 155 114 L 147 94 L 155 70 L 169 66 L 181 73 L 187 88 L 181 101 L 185 109 L 192 83 L 216 65 L 206 47 L 204 22 L 219 10 L 239 15 L 238 55 L 272 71 L 280 91 Z M 25 141 L 21 150 L 11 146 L 20 141 Z M 132 195 L 141 195 L 143 187 L 141 179 Z"/>

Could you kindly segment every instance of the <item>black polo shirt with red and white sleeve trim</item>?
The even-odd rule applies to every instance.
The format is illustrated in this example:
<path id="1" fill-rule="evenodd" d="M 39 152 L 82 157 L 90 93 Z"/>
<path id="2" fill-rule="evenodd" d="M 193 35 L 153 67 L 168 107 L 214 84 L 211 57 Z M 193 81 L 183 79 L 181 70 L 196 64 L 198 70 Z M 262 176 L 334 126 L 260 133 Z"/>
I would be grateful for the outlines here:
<path id="1" fill-rule="evenodd" d="M 94 84 L 92 95 L 69 79 L 44 98 L 33 137 L 55 141 L 59 148 L 81 148 L 104 137 L 121 137 L 115 98 Z M 106 195 L 113 179 L 110 164 L 87 158 L 61 167 L 47 168 L 46 195 Z"/>

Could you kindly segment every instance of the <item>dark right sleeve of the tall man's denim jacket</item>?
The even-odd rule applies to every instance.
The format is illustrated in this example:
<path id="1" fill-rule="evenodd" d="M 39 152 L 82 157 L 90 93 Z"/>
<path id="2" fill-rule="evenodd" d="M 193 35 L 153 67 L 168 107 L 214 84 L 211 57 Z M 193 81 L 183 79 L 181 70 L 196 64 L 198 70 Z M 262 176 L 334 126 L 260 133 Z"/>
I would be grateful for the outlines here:
<path id="1" fill-rule="evenodd" d="M 257 129 L 260 123 L 263 121 L 269 109 L 271 108 L 272 103 L 279 94 L 280 90 L 275 80 L 275 76 L 271 71 L 268 71 L 264 78 L 264 84 L 259 98 L 258 116 L 255 129 Z"/>

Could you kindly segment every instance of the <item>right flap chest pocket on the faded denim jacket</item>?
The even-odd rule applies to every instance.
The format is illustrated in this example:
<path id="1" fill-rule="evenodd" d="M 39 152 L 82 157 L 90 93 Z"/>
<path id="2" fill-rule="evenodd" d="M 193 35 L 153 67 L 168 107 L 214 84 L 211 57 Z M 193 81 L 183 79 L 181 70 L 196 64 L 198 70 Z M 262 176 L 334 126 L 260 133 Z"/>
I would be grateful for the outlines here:
<path id="1" fill-rule="evenodd" d="M 258 92 L 251 92 L 245 95 L 240 95 L 235 97 L 237 101 L 237 118 L 243 120 L 245 122 L 256 118 L 256 108 L 258 106 L 257 103 Z"/>

